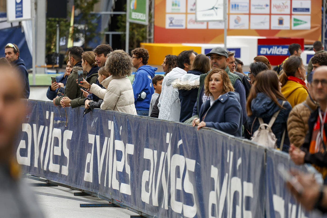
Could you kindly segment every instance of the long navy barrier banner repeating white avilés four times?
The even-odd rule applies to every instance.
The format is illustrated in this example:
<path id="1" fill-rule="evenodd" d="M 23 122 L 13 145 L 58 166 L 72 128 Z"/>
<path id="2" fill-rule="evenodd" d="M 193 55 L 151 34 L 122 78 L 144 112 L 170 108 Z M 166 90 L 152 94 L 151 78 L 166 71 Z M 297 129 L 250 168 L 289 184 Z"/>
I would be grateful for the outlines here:
<path id="1" fill-rule="evenodd" d="M 264 217 L 265 149 L 176 122 L 27 101 L 24 173 L 153 217 Z"/>

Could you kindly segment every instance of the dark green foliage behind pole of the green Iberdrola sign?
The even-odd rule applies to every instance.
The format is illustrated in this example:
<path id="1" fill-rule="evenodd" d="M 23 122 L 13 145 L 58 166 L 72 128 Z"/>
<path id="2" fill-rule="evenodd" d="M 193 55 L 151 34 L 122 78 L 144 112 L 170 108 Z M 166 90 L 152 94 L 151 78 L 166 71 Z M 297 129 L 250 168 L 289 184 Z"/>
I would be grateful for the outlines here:
<path id="1" fill-rule="evenodd" d="M 117 26 L 116 31 L 126 31 L 126 14 L 119 15 Z M 126 35 L 121 34 L 121 41 L 125 42 L 125 39 Z M 140 42 L 146 42 L 146 25 L 129 23 L 129 49 L 140 47 Z"/>

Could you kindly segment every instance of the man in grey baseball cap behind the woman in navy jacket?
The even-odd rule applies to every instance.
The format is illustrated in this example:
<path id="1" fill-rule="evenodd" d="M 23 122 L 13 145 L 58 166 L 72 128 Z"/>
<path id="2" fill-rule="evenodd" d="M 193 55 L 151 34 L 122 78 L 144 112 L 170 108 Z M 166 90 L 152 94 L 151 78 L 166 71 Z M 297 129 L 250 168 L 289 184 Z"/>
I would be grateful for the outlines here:
<path id="1" fill-rule="evenodd" d="M 240 96 L 240 104 L 242 107 L 242 124 L 244 124 L 247 120 L 247 113 L 246 113 L 246 97 L 245 97 L 245 88 L 241 81 L 241 78 L 230 72 L 229 67 L 227 66 L 227 63 L 229 62 L 228 58 L 228 52 L 222 48 L 222 47 L 215 47 L 213 48 L 208 54 L 206 54 L 210 58 L 210 66 L 211 69 L 219 68 L 226 71 L 228 74 L 232 85 L 234 87 L 235 92 L 237 92 Z M 200 111 L 201 105 L 206 100 L 209 100 L 210 97 L 206 96 L 204 93 L 204 79 L 207 74 L 200 75 L 200 84 L 199 84 L 199 90 L 201 90 L 198 94 L 197 103 L 193 109 L 193 111 Z M 195 113 L 193 112 L 193 115 Z"/>

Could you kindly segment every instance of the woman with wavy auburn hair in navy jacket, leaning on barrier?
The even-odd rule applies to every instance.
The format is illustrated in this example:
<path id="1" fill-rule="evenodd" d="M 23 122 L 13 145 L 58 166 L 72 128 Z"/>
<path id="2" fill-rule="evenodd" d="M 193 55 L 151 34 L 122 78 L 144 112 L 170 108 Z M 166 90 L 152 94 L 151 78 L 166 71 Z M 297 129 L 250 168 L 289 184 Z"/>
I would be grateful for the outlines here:
<path id="1" fill-rule="evenodd" d="M 214 69 L 204 80 L 204 92 L 211 99 L 202 104 L 200 118 L 195 118 L 193 126 L 213 127 L 222 132 L 240 137 L 242 135 L 242 109 L 240 97 L 234 92 L 228 74 L 222 69 Z"/>

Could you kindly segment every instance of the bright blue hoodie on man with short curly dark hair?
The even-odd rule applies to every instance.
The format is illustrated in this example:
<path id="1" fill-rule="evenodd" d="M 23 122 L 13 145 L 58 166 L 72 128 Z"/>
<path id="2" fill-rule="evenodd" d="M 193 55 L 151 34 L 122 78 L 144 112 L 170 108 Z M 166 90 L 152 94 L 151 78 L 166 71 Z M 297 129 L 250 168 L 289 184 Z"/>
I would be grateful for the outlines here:
<path id="1" fill-rule="evenodd" d="M 136 110 L 149 110 L 152 94 L 154 88 L 152 85 L 152 79 L 154 77 L 157 67 L 151 67 L 149 65 L 143 65 L 135 72 L 134 81 L 132 84 L 134 92 L 134 104 Z M 137 100 L 141 92 L 146 93 L 146 98 L 143 100 Z"/>

